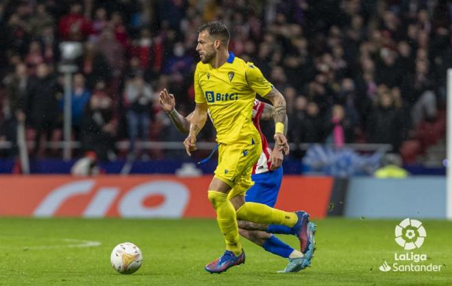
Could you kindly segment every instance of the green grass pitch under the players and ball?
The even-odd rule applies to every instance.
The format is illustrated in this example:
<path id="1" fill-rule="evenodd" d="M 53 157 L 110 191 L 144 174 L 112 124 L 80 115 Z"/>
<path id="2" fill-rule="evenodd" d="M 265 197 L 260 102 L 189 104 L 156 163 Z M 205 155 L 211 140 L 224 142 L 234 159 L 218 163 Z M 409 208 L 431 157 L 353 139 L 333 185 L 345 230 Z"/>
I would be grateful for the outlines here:
<path id="1" fill-rule="evenodd" d="M 214 220 L 83 220 L 0 218 L 0 285 L 451 285 L 452 222 L 423 220 L 425 243 L 415 253 L 442 272 L 380 272 L 403 249 L 394 242 L 400 220 L 314 220 L 312 267 L 278 274 L 286 261 L 242 239 L 247 262 L 223 274 L 203 266 L 221 255 Z M 295 237 L 281 236 L 297 246 Z M 84 241 L 99 246 L 69 247 Z M 134 242 L 143 252 L 135 274 L 110 265 L 110 252 Z"/>

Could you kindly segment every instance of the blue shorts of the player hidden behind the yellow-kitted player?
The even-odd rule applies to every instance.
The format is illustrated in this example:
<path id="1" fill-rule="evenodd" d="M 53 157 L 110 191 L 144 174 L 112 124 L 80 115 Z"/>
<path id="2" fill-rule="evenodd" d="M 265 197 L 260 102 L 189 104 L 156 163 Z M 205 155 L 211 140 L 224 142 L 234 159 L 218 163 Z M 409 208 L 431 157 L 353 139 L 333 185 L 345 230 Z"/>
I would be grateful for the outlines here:
<path id="1" fill-rule="evenodd" d="M 278 198 L 279 187 L 281 187 L 282 177 L 282 167 L 277 168 L 273 172 L 253 174 L 251 180 L 254 181 L 254 185 L 247 190 L 245 201 L 274 207 Z"/>

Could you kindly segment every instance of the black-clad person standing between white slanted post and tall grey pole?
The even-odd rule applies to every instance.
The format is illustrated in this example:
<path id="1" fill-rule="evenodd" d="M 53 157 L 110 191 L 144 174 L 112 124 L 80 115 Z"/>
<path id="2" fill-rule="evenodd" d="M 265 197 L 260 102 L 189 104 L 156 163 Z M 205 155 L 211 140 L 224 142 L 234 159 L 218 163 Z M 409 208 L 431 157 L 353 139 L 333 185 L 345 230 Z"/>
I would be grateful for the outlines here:
<path id="1" fill-rule="evenodd" d="M 29 79 L 25 96 L 27 121 L 36 131 L 32 155 L 38 155 L 40 151 L 41 136 L 45 134 L 49 140 L 53 129 L 59 124 L 58 100 L 61 96 L 61 87 L 55 76 L 51 75 L 49 66 L 38 64 L 36 77 Z"/>

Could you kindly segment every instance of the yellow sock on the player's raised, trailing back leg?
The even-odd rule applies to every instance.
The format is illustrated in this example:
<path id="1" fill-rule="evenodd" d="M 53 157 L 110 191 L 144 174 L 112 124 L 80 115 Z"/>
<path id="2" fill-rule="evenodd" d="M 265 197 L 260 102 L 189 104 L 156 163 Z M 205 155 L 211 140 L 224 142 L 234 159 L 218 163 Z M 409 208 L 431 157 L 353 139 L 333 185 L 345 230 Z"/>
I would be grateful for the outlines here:
<path id="1" fill-rule="evenodd" d="M 281 224 L 289 227 L 294 226 L 298 221 L 296 213 L 273 209 L 258 203 L 244 203 L 237 210 L 237 219 L 258 224 Z"/>

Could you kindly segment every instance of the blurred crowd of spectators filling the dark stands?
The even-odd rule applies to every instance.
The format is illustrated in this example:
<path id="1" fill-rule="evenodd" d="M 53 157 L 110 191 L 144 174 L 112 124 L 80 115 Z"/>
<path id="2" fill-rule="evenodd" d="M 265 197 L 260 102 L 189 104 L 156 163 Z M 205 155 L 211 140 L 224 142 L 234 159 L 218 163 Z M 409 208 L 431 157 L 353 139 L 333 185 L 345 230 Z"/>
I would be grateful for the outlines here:
<path id="1" fill-rule="evenodd" d="M 183 140 L 158 94 L 168 88 L 182 114 L 193 109 L 197 28 L 216 19 L 229 26 L 230 51 L 286 97 L 290 142 L 381 143 L 397 153 L 444 109 L 447 0 L 3 0 L 0 142 L 13 145 L 0 157 L 16 154 L 24 121 L 32 156 L 61 156 L 42 142 L 62 140 L 64 41 L 84 47 L 72 90 L 81 151 L 112 160 L 138 152 L 137 140 Z M 270 138 L 273 130 L 264 123 Z M 208 125 L 201 140 L 214 138 Z M 123 141 L 129 147 L 118 150 Z"/>

